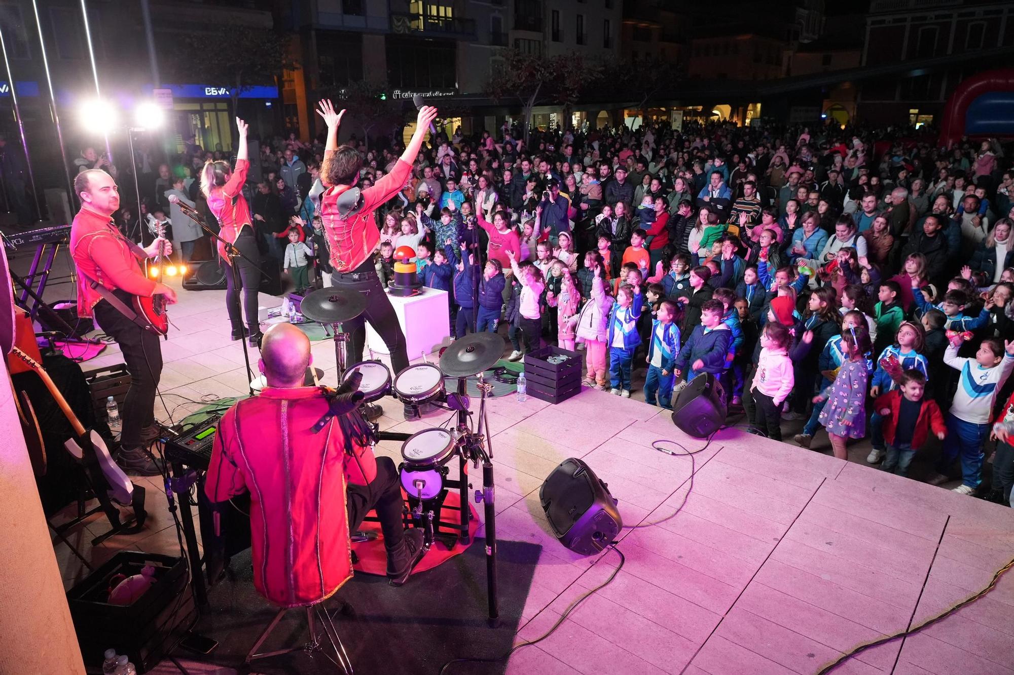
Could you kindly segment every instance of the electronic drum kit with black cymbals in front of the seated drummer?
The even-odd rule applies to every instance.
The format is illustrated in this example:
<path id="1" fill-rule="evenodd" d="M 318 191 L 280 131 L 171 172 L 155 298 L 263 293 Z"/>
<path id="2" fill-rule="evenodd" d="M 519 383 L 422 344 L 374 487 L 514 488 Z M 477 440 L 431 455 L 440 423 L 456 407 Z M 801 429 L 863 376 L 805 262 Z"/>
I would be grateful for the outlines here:
<path id="1" fill-rule="evenodd" d="M 496 593 L 496 525 L 495 491 L 493 486 L 493 447 L 489 440 L 489 420 L 486 399 L 492 385 L 485 382 L 483 373 L 503 357 L 503 339 L 495 332 L 474 332 L 454 341 L 440 356 L 439 366 L 420 363 L 405 368 L 391 377 L 386 365 L 379 361 L 361 361 L 346 367 L 348 333 L 342 324 L 357 318 L 366 309 L 366 299 L 357 291 L 337 287 L 314 291 L 303 298 L 303 316 L 334 328 L 338 378 L 345 384 L 356 373 L 361 376 L 358 391 L 362 403 L 373 403 L 390 395 L 415 411 L 423 406 L 443 408 L 456 413 L 456 423 L 445 429 L 434 427 L 415 434 L 381 432 L 371 423 L 376 441 L 401 441 L 402 463 L 399 465 L 402 488 L 408 496 L 408 509 L 412 525 L 424 528 L 424 545 L 429 548 L 440 538 L 448 547 L 455 539 L 468 545 L 470 509 L 467 463 L 478 469 L 483 467 L 483 489 L 475 492 L 477 503 L 483 502 L 486 528 L 486 572 L 489 600 L 489 620 L 498 617 Z M 467 379 L 478 376 L 480 392 L 478 423 L 470 420 L 469 400 L 466 395 Z M 448 392 L 445 378 L 456 378 L 456 391 Z M 457 457 L 459 477 L 448 478 L 449 464 Z M 450 490 L 459 493 L 460 518 L 458 523 L 440 520 L 444 501 Z"/>

